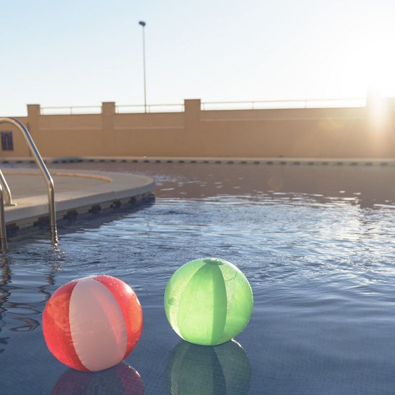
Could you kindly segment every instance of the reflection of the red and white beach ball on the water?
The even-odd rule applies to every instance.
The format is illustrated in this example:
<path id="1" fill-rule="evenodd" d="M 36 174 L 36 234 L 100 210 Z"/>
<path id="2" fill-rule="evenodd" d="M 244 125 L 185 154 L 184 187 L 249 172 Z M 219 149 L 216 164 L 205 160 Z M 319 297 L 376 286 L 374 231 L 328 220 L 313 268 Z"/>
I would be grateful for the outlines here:
<path id="1" fill-rule="evenodd" d="M 53 386 L 51 395 L 143 395 L 144 387 L 136 369 L 126 362 L 100 372 L 69 368 Z"/>

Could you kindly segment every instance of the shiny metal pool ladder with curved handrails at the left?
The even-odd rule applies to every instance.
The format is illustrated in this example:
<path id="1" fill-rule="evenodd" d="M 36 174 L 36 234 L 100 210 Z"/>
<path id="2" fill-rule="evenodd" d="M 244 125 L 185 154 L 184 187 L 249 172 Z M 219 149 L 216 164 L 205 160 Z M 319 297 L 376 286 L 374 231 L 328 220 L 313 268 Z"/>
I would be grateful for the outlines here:
<path id="1" fill-rule="evenodd" d="M 23 137 L 25 138 L 30 152 L 33 154 L 33 157 L 38 164 L 42 175 L 45 178 L 47 189 L 48 189 L 48 207 L 49 207 L 49 226 L 51 232 L 51 241 L 53 244 L 56 244 L 58 241 L 57 230 L 56 230 L 56 212 L 55 212 L 55 197 L 54 197 L 54 186 L 51 175 L 49 174 L 48 169 L 45 166 L 44 161 L 41 158 L 39 150 L 34 143 L 32 136 L 30 135 L 28 129 L 25 125 L 15 118 L 0 118 L 1 123 L 10 123 L 18 128 L 21 131 Z M 1 252 L 5 252 L 7 250 L 7 233 L 5 228 L 5 217 L 4 217 L 4 204 L 13 204 L 11 192 L 9 190 L 8 184 L 5 181 L 3 173 L 0 170 L 0 248 Z"/>

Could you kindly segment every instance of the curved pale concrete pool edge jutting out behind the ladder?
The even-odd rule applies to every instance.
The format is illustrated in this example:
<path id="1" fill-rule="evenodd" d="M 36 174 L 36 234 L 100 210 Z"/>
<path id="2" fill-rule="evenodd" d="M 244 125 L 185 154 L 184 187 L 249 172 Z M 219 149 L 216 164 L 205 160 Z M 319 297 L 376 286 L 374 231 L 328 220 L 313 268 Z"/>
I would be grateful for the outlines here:
<path id="1" fill-rule="evenodd" d="M 38 181 L 41 184 L 43 183 L 45 187 L 44 180 L 36 169 L 7 168 L 4 169 L 3 173 L 6 180 L 7 175 L 22 177 L 24 188 L 34 188 Z M 57 193 L 55 182 L 57 220 L 142 202 L 152 196 L 151 192 L 155 186 L 152 178 L 130 173 L 60 169 L 51 171 L 51 175 L 54 179 L 57 176 L 65 179 L 62 180 L 65 183 L 65 185 L 62 185 L 63 191 L 70 187 L 69 191 Z M 73 190 L 73 180 L 77 177 L 84 178 L 84 180 L 94 178 L 96 182 L 92 185 L 87 183 L 86 188 Z M 99 183 L 97 180 L 99 180 Z M 13 194 L 12 188 L 10 189 L 11 194 Z M 16 205 L 6 205 L 4 207 L 7 235 L 15 236 L 20 231 L 30 230 L 49 223 L 48 196 L 45 189 L 43 194 L 13 198 L 13 202 Z"/>

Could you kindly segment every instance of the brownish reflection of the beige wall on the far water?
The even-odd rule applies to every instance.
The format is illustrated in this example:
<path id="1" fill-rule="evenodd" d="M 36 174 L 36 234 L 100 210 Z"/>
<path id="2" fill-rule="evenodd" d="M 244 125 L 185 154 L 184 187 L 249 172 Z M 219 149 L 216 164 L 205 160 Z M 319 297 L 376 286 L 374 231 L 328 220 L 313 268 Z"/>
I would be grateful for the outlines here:
<path id="1" fill-rule="evenodd" d="M 24 164 L 25 165 L 25 164 Z M 50 168 L 131 172 L 153 177 L 157 197 L 306 194 L 373 207 L 395 202 L 394 166 L 214 163 L 62 163 Z"/>

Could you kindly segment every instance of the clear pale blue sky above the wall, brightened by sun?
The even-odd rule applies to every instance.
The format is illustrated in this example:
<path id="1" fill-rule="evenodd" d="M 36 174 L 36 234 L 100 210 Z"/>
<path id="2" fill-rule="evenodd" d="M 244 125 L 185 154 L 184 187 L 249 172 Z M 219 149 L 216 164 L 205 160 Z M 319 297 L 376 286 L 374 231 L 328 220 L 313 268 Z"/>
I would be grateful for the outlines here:
<path id="1" fill-rule="evenodd" d="M 395 0 L 0 0 L 0 116 L 26 104 L 395 93 Z"/>

